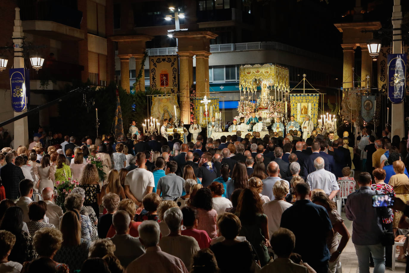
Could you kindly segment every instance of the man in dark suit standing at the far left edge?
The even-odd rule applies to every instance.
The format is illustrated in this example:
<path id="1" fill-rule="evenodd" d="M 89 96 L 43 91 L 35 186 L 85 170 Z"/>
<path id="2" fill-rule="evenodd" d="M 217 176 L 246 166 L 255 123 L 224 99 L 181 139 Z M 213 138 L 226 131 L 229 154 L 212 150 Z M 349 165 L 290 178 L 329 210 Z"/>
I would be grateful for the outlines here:
<path id="1" fill-rule="evenodd" d="M 15 157 L 13 153 L 7 153 L 4 160 L 6 165 L 0 169 L 0 180 L 6 192 L 6 198 L 15 200 L 20 197 L 18 185 L 25 177 L 21 168 L 14 165 Z"/>

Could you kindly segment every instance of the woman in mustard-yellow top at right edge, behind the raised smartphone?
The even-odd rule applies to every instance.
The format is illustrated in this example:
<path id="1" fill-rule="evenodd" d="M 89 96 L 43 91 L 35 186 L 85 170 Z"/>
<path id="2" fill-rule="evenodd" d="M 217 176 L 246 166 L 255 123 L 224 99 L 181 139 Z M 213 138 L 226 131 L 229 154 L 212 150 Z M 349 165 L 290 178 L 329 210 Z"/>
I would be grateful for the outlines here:
<path id="1" fill-rule="evenodd" d="M 396 160 L 393 162 L 393 171 L 395 175 L 389 179 L 389 185 L 393 187 L 396 197 L 400 198 L 403 202 L 409 201 L 409 178 L 404 173 L 405 163 L 402 160 Z M 402 217 L 402 212 L 396 211 L 393 218 L 393 228 L 398 228 L 398 223 Z"/>

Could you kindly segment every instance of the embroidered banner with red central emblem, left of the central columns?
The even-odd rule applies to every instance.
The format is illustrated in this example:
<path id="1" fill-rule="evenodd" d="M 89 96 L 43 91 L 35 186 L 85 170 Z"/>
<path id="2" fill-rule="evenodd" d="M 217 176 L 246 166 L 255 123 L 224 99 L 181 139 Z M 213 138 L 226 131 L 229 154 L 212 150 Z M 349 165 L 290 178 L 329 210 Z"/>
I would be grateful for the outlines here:
<path id="1" fill-rule="evenodd" d="M 149 57 L 149 78 L 151 88 L 160 89 L 164 93 L 178 91 L 178 56 Z"/>

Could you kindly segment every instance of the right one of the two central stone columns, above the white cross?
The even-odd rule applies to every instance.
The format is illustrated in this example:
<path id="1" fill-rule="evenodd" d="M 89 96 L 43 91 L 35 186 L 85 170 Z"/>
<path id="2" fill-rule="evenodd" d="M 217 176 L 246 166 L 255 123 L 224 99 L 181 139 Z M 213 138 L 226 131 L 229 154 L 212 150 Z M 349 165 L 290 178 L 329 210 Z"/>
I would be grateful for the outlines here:
<path id="1" fill-rule="evenodd" d="M 196 97 L 209 96 L 209 56 L 211 53 L 207 51 L 194 53 L 196 54 Z"/>

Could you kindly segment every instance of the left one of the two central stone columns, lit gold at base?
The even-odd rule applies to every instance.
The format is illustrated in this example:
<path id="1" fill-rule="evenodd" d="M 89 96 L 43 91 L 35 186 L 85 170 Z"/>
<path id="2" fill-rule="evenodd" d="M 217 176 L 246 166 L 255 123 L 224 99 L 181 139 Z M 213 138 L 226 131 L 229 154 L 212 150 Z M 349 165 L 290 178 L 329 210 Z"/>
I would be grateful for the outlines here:
<path id="1" fill-rule="evenodd" d="M 193 53 L 189 51 L 177 52 L 179 55 L 179 90 L 180 112 L 184 124 L 190 124 L 190 75 L 193 71 Z M 190 66 L 192 65 L 192 67 Z"/>

